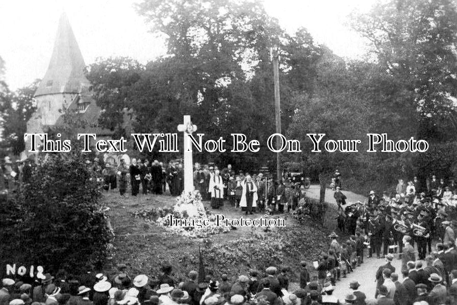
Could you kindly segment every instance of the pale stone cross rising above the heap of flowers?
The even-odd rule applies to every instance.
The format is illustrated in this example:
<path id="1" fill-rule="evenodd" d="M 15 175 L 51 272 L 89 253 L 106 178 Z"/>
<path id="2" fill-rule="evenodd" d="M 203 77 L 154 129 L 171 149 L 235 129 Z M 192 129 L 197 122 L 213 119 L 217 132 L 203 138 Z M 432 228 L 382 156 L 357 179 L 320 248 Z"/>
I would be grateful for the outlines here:
<path id="1" fill-rule="evenodd" d="M 192 144 L 189 134 L 197 130 L 197 126 L 192 125 L 190 116 L 184 116 L 184 124 L 177 126 L 177 130 L 184 132 L 184 191 L 194 190 L 194 171 L 192 162 Z"/>

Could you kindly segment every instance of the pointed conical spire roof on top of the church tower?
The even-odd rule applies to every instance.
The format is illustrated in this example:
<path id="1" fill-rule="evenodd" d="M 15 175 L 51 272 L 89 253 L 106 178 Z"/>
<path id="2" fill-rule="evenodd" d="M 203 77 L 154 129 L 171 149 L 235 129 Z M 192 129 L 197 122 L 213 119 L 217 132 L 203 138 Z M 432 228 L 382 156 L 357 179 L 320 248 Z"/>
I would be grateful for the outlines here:
<path id="1" fill-rule="evenodd" d="M 84 75 L 85 63 L 65 13 L 60 16 L 53 55 L 35 96 L 79 93 L 89 87 Z"/>

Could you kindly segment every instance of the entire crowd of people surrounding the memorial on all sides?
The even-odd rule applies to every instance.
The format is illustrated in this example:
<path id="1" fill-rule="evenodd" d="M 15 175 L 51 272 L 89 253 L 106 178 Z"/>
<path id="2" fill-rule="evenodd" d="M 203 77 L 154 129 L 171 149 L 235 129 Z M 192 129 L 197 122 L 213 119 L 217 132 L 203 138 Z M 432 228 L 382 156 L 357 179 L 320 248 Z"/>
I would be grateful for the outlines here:
<path id="1" fill-rule="evenodd" d="M 171 195 L 177 196 L 183 190 L 183 166 L 179 160 L 166 167 L 157 160 L 141 159 L 132 159 L 129 166 L 123 159 L 119 164 L 103 164 L 98 158 L 86 163 L 106 190 L 118 188 L 121 196 L 125 196 L 129 183 L 133 196 L 139 195 L 140 187 L 143 195 L 169 190 Z M 15 165 L 5 159 L 5 179 L 2 181 L 5 188 L 14 190 L 17 181 L 30 179 L 32 165 L 33 160 L 29 159 L 19 160 Z M 230 164 L 219 170 L 214 164 L 196 163 L 193 176 L 195 189 L 204 199 L 211 200 L 213 209 L 228 202 L 241 207 L 246 214 L 267 209 L 282 213 L 286 209 L 296 209 L 306 198 L 302 179 L 285 176 L 284 180 L 275 181 L 271 175 L 261 172 L 235 172 Z M 67 276 L 63 270 L 56 279 L 47 274 L 34 283 L 4 279 L 0 305 L 30 305 L 33 302 L 40 305 L 338 303 L 332 295 L 337 282 L 363 264 L 365 256 L 373 255 L 385 259 L 385 264 L 375 274 L 375 298 L 367 299 L 359 290 L 361 284 L 352 281 L 345 302 L 361 305 L 457 304 L 455 182 L 431 176 L 421 186 L 417 177 L 408 183 L 400 179 L 394 192 L 385 191 L 378 196 L 370 191 L 366 203 L 352 204 L 346 203 L 341 179 L 336 182 L 337 227 L 348 238 L 341 242 L 335 232 L 329 236 L 328 250 L 319 255 L 311 268 L 316 276 L 310 276 L 307 263 L 301 262 L 300 288 L 293 292 L 289 291 L 287 274 L 290 269 L 287 267 L 280 272 L 269 267 L 263 279 L 259 279 L 260 272 L 251 270 L 246 275 L 239 275 L 237 281 L 228 280 L 226 274 L 220 279 L 197 281 L 197 272 L 191 271 L 189 279 L 182 283 L 171 279 L 168 267 L 158 278 L 141 274 L 133 280 L 125 267 L 120 267 L 111 281 L 104 274 L 89 272 L 77 277 Z M 395 257 L 401 260 L 400 270 L 392 265 Z"/>

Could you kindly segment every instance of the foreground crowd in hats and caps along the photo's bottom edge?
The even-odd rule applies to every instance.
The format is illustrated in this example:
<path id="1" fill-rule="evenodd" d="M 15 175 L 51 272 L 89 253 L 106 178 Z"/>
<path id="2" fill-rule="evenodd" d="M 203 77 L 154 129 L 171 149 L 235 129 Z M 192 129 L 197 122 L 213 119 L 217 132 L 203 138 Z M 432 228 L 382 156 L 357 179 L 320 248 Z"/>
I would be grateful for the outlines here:
<path id="1" fill-rule="evenodd" d="M 300 263 L 299 288 L 291 291 L 289 267 L 270 266 L 263 272 L 249 270 L 237 278 L 204 276 L 190 270 L 187 278 L 176 281 L 172 267 L 162 266 L 158 276 L 139 274 L 133 279 L 126 265 L 110 279 L 104 273 L 86 272 L 80 276 L 61 269 L 56 276 L 42 274 L 29 281 L 5 278 L 0 289 L 2 305 L 308 305 L 337 303 L 331 283 L 320 284 L 310 277 L 306 262 Z M 30 278 L 29 278 L 30 280 Z"/>

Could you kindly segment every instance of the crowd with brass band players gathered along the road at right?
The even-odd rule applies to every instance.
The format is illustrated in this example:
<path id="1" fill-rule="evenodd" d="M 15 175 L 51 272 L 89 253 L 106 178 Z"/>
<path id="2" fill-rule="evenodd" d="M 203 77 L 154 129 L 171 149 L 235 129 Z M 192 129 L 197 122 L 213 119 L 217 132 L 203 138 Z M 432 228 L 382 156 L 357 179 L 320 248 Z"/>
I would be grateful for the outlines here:
<path id="1" fill-rule="evenodd" d="M 399 179 L 393 193 L 385 191 L 379 197 L 370 191 L 367 203 L 356 202 L 344 209 L 347 198 L 341 185 L 335 186 L 337 227 L 350 238 L 340 245 L 337 235 L 331 235 L 331 249 L 321 256 L 319 267 L 331 278 L 338 279 L 339 264 L 344 265 L 345 273 L 351 263 L 363 262 L 364 255 L 376 255 L 378 259 L 386 259 L 386 264 L 375 274 L 378 304 L 454 304 L 457 296 L 457 186 L 452 179 L 445 181 L 431 176 L 422 187 L 417 177 L 407 184 Z M 349 253 L 347 248 L 351 249 Z M 391 264 L 395 256 L 401 260 L 397 273 Z M 365 303 L 360 301 L 365 300 L 364 296 L 353 294 L 349 298 Z"/>

